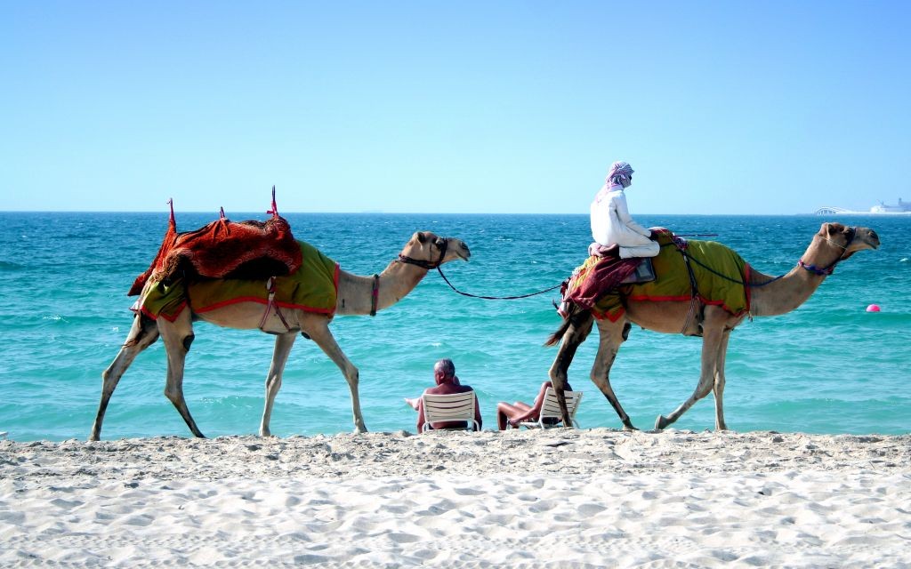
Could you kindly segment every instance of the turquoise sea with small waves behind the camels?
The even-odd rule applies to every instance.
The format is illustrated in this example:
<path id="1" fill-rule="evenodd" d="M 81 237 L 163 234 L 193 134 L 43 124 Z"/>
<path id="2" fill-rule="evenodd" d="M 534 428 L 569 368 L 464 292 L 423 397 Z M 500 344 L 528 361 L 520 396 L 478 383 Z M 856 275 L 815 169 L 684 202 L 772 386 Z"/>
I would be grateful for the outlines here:
<path id="1" fill-rule="evenodd" d="M 415 230 L 458 237 L 469 263 L 444 266 L 453 284 L 478 295 L 546 289 L 568 277 L 589 244 L 588 216 L 286 214 L 298 239 L 342 268 L 371 275 Z M 178 214 L 179 230 L 217 214 Z M 233 213 L 230 218 L 264 219 Z M 756 269 L 788 271 L 823 221 L 875 229 L 882 247 L 862 251 L 793 312 L 744 322 L 733 332 L 725 417 L 736 431 L 906 433 L 911 431 L 911 217 L 648 216 L 646 226 L 717 233 Z M 100 374 L 132 319 L 133 279 L 148 267 L 167 229 L 161 213 L 0 213 L 0 432 L 15 441 L 85 439 L 97 410 Z M 375 318 L 339 317 L 333 333 L 361 371 L 364 418 L 371 431 L 415 430 L 404 404 L 433 384 L 436 360 L 449 357 L 478 392 L 485 428 L 496 428 L 496 401 L 528 401 L 556 353 L 542 347 L 559 318 L 558 291 L 524 300 L 476 300 L 455 294 L 435 272 Z M 882 311 L 866 312 L 869 304 Z M 185 392 L 208 436 L 258 430 L 273 338 L 199 323 Z M 597 332 L 570 368 L 585 391 L 582 427 L 619 428 L 589 381 Z M 659 413 L 688 397 L 699 375 L 701 340 L 633 329 L 612 384 L 634 424 L 650 429 Z M 140 354 L 107 410 L 104 439 L 189 436 L 164 397 L 159 341 Z M 714 425 L 711 395 L 674 426 Z M 347 384 L 312 342 L 297 341 L 271 429 L 279 436 L 350 432 Z"/>

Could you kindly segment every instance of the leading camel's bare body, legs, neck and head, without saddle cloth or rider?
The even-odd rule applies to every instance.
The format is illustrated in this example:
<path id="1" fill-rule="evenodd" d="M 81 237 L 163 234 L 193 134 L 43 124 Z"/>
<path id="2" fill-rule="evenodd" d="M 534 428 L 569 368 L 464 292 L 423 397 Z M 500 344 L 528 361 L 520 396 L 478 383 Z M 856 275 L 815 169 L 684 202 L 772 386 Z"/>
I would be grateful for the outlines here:
<path id="1" fill-rule="evenodd" d="M 759 316 L 776 316 L 796 309 L 809 299 L 822 284 L 826 276 L 831 275 L 835 265 L 856 251 L 876 249 L 879 237 L 873 229 L 850 228 L 838 223 L 824 223 L 817 232 L 809 248 L 804 252 L 797 266 L 782 277 L 773 278 L 751 270 L 749 282 L 752 303 L 748 313 L 739 316 L 724 310 L 720 306 L 702 305 L 694 307 L 703 311 L 701 330 L 694 328 L 691 322 L 691 301 L 642 301 L 623 299 L 625 313 L 615 322 L 609 319 L 597 320 L 599 331 L 598 353 L 591 368 L 591 381 L 610 402 L 617 412 L 624 430 L 635 430 L 630 417 L 623 411 L 617 396 L 610 388 L 610 367 L 617 357 L 620 345 L 627 340 L 632 324 L 646 330 L 674 334 L 702 336 L 701 374 L 696 390 L 681 405 L 667 416 L 659 415 L 655 429 L 661 430 L 676 422 L 696 402 L 709 394 L 715 395 L 715 429 L 726 431 L 722 394 L 724 392 L 724 359 L 728 349 L 728 340 L 733 330 L 745 318 Z M 660 279 L 660 275 L 659 275 Z M 622 297 L 622 294 L 621 294 Z M 552 346 L 559 342 L 559 349 L 553 365 L 550 367 L 550 380 L 557 391 L 558 401 L 563 413 L 563 422 L 568 422 L 566 401 L 563 397 L 563 386 L 568 381 L 568 368 L 576 354 L 578 346 L 586 340 L 592 329 L 595 318 L 589 310 L 582 310 L 573 305 L 568 317 L 561 327 L 550 336 L 545 345 Z"/>

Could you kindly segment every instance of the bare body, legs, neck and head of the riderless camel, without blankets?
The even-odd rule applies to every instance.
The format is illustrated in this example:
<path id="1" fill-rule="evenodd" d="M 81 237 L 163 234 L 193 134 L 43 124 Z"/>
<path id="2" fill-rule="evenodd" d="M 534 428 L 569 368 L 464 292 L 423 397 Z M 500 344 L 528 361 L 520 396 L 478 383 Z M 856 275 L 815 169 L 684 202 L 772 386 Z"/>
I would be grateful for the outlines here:
<path id="1" fill-rule="evenodd" d="M 373 316 L 377 310 L 384 310 L 394 305 L 414 290 L 421 279 L 424 279 L 428 270 L 436 269 L 451 260 L 468 260 L 470 256 L 468 246 L 461 239 L 440 238 L 429 231 L 417 232 L 404 246 L 398 258 L 390 262 L 379 275 L 360 277 L 340 270 L 335 313 Z M 153 285 L 152 280 L 146 283 L 140 299 L 144 298 L 148 287 Z M 265 286 L 265 282 L 263 286 Z M 272 353 L 269 373 L 266 376 L 266 398 L 260 424 L 261 437 L 271 436 L 269 421 L 272 403 L 281 388 L 281 374 L 298 333 L 304 338 L 316 342 L 342 371 L 345 380 L 348 381 L 348 387 L 351 389 L 354 429 L 356 432 L 367 431 L 358 396 L 358 370 L 339 348 L 329 330 L 329 323 L 333 319 L 331 315 L 304 310 L 281 309 L 278 311 L 274 307 L 271 310 L 270 307 L 266 307 L 264 310 L 263 304 L 255 301 L 237 302 L 204 313 L 196 313 L 192 308 L 192 300 L 190 300 L 189 310 L 182 310 L 177 319 L 172 322 L 165 318 L 152 320 L 143 312 L 137 311 L 127 341 L 102 374 L 104 381 L 101 401 L 98 404 L 98 412 L 92 425 L 89 441 L 97 441 L 101 435 L 101 422 L 104 420 L 107 402 L 117 388 L 118 381 L 138 353 L 152 345 L 159 336 L 164 341 L 165 351 L 168 354 L 165 396 L 174 403 L 180 416 L 187 422 L 190 432 L 197 437 L 204 438 L 196 422 L 190 416 L 187 401 L 183 397 L 184 361 L 194 338 L 193 320 L 204 320 L 226 328 L 260 329 L 275 334 L 275 349 Z"/>

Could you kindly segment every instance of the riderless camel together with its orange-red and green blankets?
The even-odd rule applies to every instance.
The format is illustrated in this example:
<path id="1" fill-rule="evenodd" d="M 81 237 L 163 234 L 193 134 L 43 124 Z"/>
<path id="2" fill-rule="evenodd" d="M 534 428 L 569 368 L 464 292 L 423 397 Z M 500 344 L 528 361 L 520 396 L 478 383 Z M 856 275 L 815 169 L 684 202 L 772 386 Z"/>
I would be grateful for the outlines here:
<path id="1" fill-rule="evenodd" d="M 274 211 L 274 198 L 272 213 L 273 219 L 281 219 Z M 283 221 L 281 219 L 281 222 Z M 279 223 L 281 224 L 281 222 Z M 304 278 L 315 273 L 319 279 L 325 281 L 329 292 L 328 296 L 326 293 L 321 293 L 321 298 L 322 301 L 330 298 L 331 305 L 321 305 L 311 300 L 281 298 L 281 290 L 300 288 L 298 282 L 290 280 L 300 276 L 293 274 L 293 271 L 292 274 L 281 274 L 273 279 L 249 279 L 251 266 L 250 263 L 245 262 L 246 267 L 241 267 L 241 269 L 246 269 L 243 275 L 246 279 L 197 279 L 195 273 L 194 276 L 186 276 L 189 274 L 187 272 L 189 270 L 188 259 L 199 261 L 193 263 L 196 269 L 206 269 L 208 266 L 220 269 L 223 268 L 223 263 L 218 262 L 218 259 L 209 259 L 206 254 L 199 256 L 196 255 L 196 252 L 184 254 L 184 249 L 179 246 L 185 244 L 186 241 L 182 236 L 189 234 L 178 234 L 173 224 L 172 214 L 166 242 L 159 250 L 159 255 L 150 269 L 137 279 L 138 282 L 141 281 L 138 310 L 136 310 L 127 341 L 121 347 L 117 358 L 102 374 L 104 382 L 101 401 L 98 404 L 97 416 L 89 435 L 90 441 L 97 441 L 101 435 L 101 423 L 104 421 L 107 403 L 117 388 L 118 381 L 139 352 L 152 345 L 155 340 L 159 339 L 159 336 L 164 340 L 165 351 L 168 355 L 165 395 L 187 422 L 189 430 L 197 437 L 203 436 L 189 414 L 187 401 L 183 396 L 184 361 L 194 338 L 192 324 L 194 320 L 205 320 L 226 328 L 259 329 L 275 334 L 275 349 L 269 373 L 266 376 L 266 398 L 262 411 L 260 436 L 270 435 L 269 422 L 272 403 L 281 388 L 281 374 L 298 334 L 316 342 L 342 371 L 351 390 L 354 429 L 357 432 L 365 432 L 367 428 L 363 422 L 358 394 L 358 370 L 345 356 L 329 330 L 329 323 L 333 320 L 333 315 L 369 314 L 373 316 L 378 310 L 384 310 L 394 305 L 414 290 L 421 279 L 424 279 L 428 270 L 435 269 L 451 260 L 468 260 L 471 256 L 468 246 L 461 239 L 440 238 L 429 231 L 417 232 L 405 244 L 399 256 L 390 262 L 383 272 L 373 277 L 360 277 L 338 269 L 334 261 L 323 257 L 322 253 L 312 247 L 305 247 L 306 244 L 300 241 L 291 239 L 291 246 L 295 248 L 291 251 L 286 250 L 284 246 L 275 246 L 274 239 L 268 247 L 262 247 L 261 244 L 257 246 L 259 249 L 270 251 L 271 263 L 266 265 L 271 266 L 271 269 L 278 267 L 282 273 L 288 273 L 293 269 L 293 271 L 304 273 Z M 211 228 L 207 226 L 209 229 L 205 231 L 200 229 L 191 233 L 200 234 L 201 232 L 204 235 L 214 235 L 223 231 L 224 228 L 221 226 L 230 228 L 236 233 L 238 228 L 230 224 L 231 222 L 222 218 L 215 224 L 210 224 Z M 241 232 L 249 233 L 250 229 L 250 226 L 247 226 L 241 228 Z M 288 231 L 290 233 L 290 229 Z M 265 228 L 263 233 L 269 234 L 269 228 Z M 267 235 L 266 239 L 271 239 L 271 237 Z M 253 240 L 259 241 L 260 237 L 254 236 Z M 247 247 L 251 247 L 249 242 Z M 174 260 L 176 255 L 169 254 L 174 251 L 180 252 L 179 261 Z M 297 259 L 294 259 L 295 253 Z M 303 259 L 301 259 L 301 255 Z M 165 262 L 165 259 L 174 260 L 174 262 Z M 289 266 L 282 269 L 283 263 L 275 261 L 285 259 L 290 259 L 287 263 Z M 261 269 L 262 263 L 256 259 L 253 260 L 253 264 L 260 265 Z M 176 272 L 165 270 L 171 267 L 177 267 Z M 256 288 L 264 291 L 263 294 L 233 297 L 230 300 L 199 307 L 195 304 L 199 297 L 195 293 L 187 293 L 188 290 L 192 292 L 193 287 L 203 287 L 207 289 L 207 292 L 212 292 L 213 289 L 218 292 L 220 288 L 237 285 L 238 280 L 244 281 L 241 283 L 244 286 L 256 285 Z M 201 289 L 197 291 L 199 290 Z M 159 304 L 156 310 L 148 310 L 148 307 L 154 304 L 148 301 L 152 297 L 159 300 L 165 298 L 168 301 Z"/>

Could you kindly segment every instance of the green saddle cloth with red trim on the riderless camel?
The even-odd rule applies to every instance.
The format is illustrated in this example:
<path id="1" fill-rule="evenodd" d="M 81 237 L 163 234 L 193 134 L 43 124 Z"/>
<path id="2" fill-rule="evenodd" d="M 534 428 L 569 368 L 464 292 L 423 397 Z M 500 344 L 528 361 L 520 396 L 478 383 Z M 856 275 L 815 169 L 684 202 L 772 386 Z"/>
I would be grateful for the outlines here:
<path id="1" fill-rule="evenodd" d="M 338 299 L 339 265 L 309 243 L 296 241 L 302 259 L 291 275 L 275 278 L 274 302 L 281 308 L 332 316 Z M 149 318 L 175 320 L 189 303 L 197 313 L 236 302 L 269 301 L 267 279 L 161 280 L 139 299 L 139 309 Z"/>

